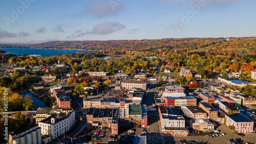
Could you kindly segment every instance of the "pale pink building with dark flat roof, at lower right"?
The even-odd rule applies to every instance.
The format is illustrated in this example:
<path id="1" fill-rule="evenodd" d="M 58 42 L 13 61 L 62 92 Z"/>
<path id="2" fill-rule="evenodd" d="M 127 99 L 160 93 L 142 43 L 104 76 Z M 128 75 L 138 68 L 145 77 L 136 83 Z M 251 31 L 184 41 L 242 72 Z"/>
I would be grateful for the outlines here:
<path id="1" fill-rule="evenodd" d="M 241 113 L 226 114 L 226 125 L 238 133 L 253 132 L 253 122 Z"/>

